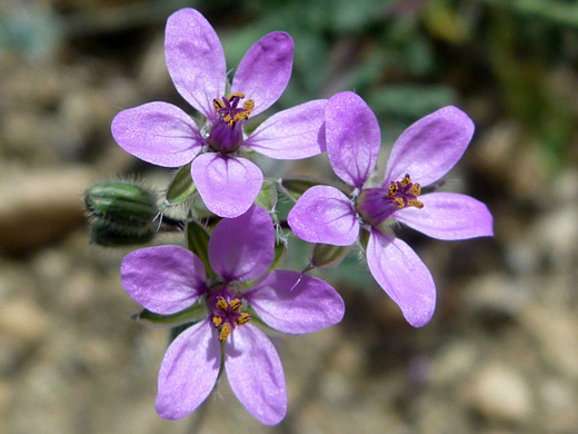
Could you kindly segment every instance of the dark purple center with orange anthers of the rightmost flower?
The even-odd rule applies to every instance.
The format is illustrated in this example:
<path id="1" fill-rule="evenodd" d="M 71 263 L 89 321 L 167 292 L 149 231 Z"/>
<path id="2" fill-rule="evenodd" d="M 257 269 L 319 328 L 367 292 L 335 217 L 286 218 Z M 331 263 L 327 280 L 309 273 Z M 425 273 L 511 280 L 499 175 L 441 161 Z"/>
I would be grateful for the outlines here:
<path id="1" fill-rule="evenodd" d="M 423 208 L 418 200 L 421 187 L 412 183 L 409 174 L 400 181 L 392 181 L 389 189 L 367 188 L 361 190 L 356 201 L 356 210 L 363 221 L 370 225 L 379 225 L 398 209 L 415 207 Z"/>

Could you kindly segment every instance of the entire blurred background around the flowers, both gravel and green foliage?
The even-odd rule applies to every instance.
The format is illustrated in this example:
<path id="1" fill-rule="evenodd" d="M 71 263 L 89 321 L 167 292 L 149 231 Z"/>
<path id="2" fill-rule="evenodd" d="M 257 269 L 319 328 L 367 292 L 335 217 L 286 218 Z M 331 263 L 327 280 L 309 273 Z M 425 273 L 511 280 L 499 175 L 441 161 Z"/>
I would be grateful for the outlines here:
<path id="1" fill-rule="evenodd" d="M 165 21 L 185 6 L 216 27 L 230 68 L 260 36 L 289 31 L 293 77 L 277 108 L 356 90 L 380 119 L 383 155 L 445 105 L 477 125 L 446 188 L 486 201 L 496 236 L 401 229 L 438 287 L 420 329 L 357 253 L 325 272 L 346 318 L 276 339 L 289 389 L 276 427 L 225 378 L 192 416 L 158 417 L 167 333 L 130 319 L 139 306 L 119 265 L 131 248 L 89 244 L 92 181 L 137 174 L 161 189 L 169 176 L 124 154 L 110 121 L 152 100 L 188 109 L 162 51 Z M 0 432 L 577 433 L 577 17 L 562 0 L 2 1 Z M 326 158 L 269 170 L 330 177 Z M 302 267 L 305 246 L 290 248 L 286 266 Z"/>

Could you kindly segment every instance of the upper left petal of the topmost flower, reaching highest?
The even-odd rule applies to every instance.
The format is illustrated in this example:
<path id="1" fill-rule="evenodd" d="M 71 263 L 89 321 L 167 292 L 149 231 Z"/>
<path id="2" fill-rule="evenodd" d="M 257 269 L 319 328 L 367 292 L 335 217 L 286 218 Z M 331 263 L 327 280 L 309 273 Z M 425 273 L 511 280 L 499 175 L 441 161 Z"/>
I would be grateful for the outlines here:
<path id="1" fill-rule="evenodd" d="M 225 95 L 227 66 L 219 37 L 195 9 L 169 17 L 165 34 L 167 68 L 179 93 L 211 122 L 215 98 Z"/>

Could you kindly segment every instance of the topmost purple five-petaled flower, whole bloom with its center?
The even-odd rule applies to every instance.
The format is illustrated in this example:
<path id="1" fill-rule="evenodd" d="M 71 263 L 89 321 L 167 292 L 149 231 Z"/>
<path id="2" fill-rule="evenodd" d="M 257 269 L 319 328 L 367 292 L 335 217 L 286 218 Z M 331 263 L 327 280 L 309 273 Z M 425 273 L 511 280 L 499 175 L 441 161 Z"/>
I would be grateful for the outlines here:
<path id="1" fill-rule="evenodd" d="M 239 157 L 251 148 L 278 159 L 320 154 L 319 137 L 327 100 L 313 100 L 281 111 L 245 138 L 242 124 L 281 96 L 291 76 L 293 41 L 275 31 L 245 55 L 230 93 L 225 55 L 213 28 L 195 9 L 181 9 L 167 21 L 167 68 L 179 93 L 207 118 L 199 130 L 180 108 L 150 102 L 122 110 L 112 121 L 112 136 L 127 152 L 163 167 L 191 164 L 197 189 L 212 213 L 243 214 L 262 185 L 259 167 Z M 205 154 L 200 154 L 205 152 Z"/>

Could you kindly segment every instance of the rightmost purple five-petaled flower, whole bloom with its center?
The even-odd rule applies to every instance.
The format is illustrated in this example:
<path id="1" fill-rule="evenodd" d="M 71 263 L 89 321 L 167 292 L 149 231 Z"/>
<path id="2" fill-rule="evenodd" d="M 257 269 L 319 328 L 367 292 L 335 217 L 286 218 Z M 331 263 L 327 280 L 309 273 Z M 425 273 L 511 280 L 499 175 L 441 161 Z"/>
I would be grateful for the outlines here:
<path id="1" fill-rule="evenodd" d="M 465 195 L 429 193 L 428 186 L 461 158 L 474 135 L 470 118 L 445 107 L 411 125 L 391 150 L 386 177 L 363 188 L 376 166 L 381 135 L 376 116 L 356 93 L 341 92 L 326 107 L 327 152 L 333 171 L 356 189 L 351 198 L 329 186 L 307 190 L 288 216 L 293 233 L 309 243 L 348 246 L 367 225 L 369 270 L 415 327 L 436 307 L 431 274 L 416 253 L 388 230 L 389 220 L 438 239 L 491 236 L 486 205 Z"/>

